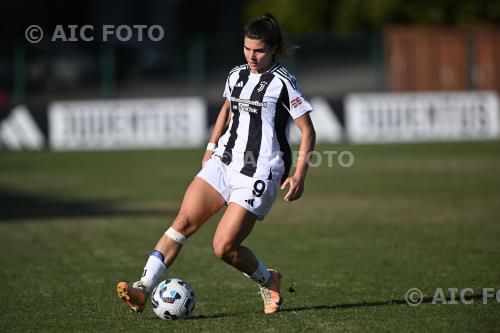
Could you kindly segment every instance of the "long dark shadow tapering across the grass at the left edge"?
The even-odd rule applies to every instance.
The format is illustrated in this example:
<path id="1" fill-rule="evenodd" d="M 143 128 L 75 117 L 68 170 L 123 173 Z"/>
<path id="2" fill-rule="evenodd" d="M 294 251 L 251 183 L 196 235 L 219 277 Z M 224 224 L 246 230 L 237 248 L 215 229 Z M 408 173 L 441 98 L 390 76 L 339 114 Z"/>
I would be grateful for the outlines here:
<path id="1" fill-rule="evenodd" d="M 71 200 L 48 195 L 20 192 L 0 187 L 0 223 L 20 219 L 44 220 L 78 217 L 171 217 L 177 211 L 162 208 L 120 207 L 110 200 Z"/>

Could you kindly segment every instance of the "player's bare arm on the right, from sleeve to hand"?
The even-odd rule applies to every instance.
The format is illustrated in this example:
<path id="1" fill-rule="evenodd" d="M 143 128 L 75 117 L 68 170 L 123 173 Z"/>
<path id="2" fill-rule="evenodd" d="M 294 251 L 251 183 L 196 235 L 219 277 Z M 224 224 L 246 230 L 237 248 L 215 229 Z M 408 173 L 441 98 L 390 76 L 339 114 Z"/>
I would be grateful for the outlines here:
<path id="1" fill-rule="evenodd" d="M 300 198 L 304 192 L 304 181 L 308 169 L 308 159 L 310 153 L 314 149 L 316 143 L 316 132 L 309 116 L 309 112 L 295 119 L 295 124 L 300 130 L 302 139 L 300 141 L 300 150 L 297 157 L 297 167 L 293 176 L 288 177 L 281 186 L 283 190 L 286 186 L 290 186 L 288 193 L 285 195 L 285 201 L 293 201 Z"/>

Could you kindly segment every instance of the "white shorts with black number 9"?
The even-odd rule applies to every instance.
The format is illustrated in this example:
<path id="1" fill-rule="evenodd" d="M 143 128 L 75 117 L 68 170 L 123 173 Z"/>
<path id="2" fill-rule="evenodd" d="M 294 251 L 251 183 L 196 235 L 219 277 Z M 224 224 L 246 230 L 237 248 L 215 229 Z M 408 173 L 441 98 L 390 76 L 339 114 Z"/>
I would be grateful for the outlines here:
<path id="1" fill-rule="evenodd" d="M 281 174 L 272 179 L 245 176 L 224 163 L 219 156 L 212 156 L 196 175 L 207 181 L 222 195 L 227 203 L 234 202 L 263 220 L 276 200 Z"/>

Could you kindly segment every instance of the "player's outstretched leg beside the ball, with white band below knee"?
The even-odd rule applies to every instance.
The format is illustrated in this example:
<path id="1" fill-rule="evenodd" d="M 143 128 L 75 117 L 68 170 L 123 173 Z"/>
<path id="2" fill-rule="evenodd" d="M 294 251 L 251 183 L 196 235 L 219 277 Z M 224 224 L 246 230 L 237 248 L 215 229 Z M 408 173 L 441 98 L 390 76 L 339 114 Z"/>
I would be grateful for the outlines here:
<path id="1" fill-rule="evenodd" d="M 151 253 L 141 279 L 129 286 L 117 285 L 118 297 L 135 312 L 142 312 L 152 289 L 179 254 L 184 242 L 225 204 L 224 198 L 208 182 L 195 177 L 191 182 L 177 217 Z"/>

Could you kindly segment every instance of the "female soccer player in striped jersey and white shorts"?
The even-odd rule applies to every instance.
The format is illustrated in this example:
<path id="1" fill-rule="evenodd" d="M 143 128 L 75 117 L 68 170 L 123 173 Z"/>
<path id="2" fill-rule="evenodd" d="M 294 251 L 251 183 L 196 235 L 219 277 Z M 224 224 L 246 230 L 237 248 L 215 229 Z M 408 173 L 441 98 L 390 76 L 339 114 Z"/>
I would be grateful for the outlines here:
<path id="1" fill-rule="evenodd" d="M 289 186 L 285 201 L 300 198 L 307 172 L 305 157 L 314 148 L 312 108 L 295 77 L 276 61 L 283 53 L 281 30 L 272 15 L 245 27 L 247 63 L 229 72 L 225 102 L 202 170 L 186 190 L 177 217 L 156 244 L 141 279 L 131 287 L 125 282 L 117 285 L 118 297 L 133 311 L 144 310 L 149 294 L 186 240 L 224 205 L 227 208 L 213 239 L 215 255 L 259 284 L 265 313 L 279 311 L 281 274 L 268 269 L 241 243 L 256 220 L 264 219 L 271 209 L 280 184 L 281 189 Z M 295 173 L 288 177 L 290 117 L 302 139 Z"/>

